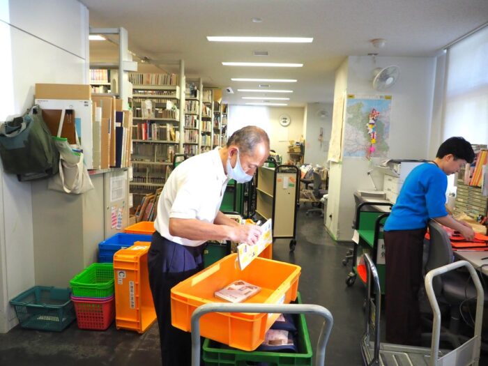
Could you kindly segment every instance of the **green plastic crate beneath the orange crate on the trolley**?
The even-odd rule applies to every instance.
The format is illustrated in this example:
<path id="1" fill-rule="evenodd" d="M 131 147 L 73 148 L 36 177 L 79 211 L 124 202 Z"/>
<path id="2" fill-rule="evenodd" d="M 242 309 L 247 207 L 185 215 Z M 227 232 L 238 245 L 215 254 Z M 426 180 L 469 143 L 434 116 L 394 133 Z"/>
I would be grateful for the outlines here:
<path id="1" fill-rule="evenodd" d="M 295 303 L 301 304 L 300 293 Z M 296 314 L 296 327 L 298 330 L 298 352 L 268 352 L 252 351 L 246 352 L 239 349 L 229 349 L 229 346 L 220 348 L 221 344 L 213 340 L 204 340 L 203 359 L 206 366 L 249 366 L 253 363 L 269 363 L 273 366 L 312 366 L 312 345 L 308 335 L 307 322 L 305 314 Z"/>

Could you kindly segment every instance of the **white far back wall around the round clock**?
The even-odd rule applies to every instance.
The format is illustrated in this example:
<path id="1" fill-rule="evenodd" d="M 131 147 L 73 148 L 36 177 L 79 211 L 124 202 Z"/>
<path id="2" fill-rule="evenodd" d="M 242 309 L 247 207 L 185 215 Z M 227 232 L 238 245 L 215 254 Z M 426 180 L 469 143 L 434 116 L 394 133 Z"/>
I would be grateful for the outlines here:
<path id="1" fill-rule="evenodd" d="M 270 148 L 288 160 L 289 140 L 299 141 L 303 136 L 303 116 L 305 110 L 301 107 L 261 107 L 261 106 L 229 106 L 229 121 L 227 122 L 230 137 L 232 133 L 246 125 L 257 125 L 264 129 L 270 138 Z M 288 114 L 291 123 L 282 127 L 278 119 L 282 114 Z"/>

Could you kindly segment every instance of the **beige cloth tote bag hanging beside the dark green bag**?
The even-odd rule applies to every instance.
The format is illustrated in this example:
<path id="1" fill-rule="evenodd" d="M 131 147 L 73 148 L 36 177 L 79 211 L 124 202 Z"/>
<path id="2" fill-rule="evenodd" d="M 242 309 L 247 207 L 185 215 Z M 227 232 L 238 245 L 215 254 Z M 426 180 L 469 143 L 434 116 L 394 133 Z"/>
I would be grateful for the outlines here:
<path id="1" fill-rule="evenodd" d="M 83 153 L 73 151 L 68 144 L 68 139 L 60 137 L 65 115 L 66 110 L 63 110 L 61 112 L 61 121 L 59 121 L 58 136 L 52 137 L 59 151 L 59 174 L 49 179 L 47 188 L 79 195 L 92 190 L 93 183 L 91 183 L 88 169 L 83 164 Z M 79 146 L 78 136 L 76 136 L 76 140 Z"/>

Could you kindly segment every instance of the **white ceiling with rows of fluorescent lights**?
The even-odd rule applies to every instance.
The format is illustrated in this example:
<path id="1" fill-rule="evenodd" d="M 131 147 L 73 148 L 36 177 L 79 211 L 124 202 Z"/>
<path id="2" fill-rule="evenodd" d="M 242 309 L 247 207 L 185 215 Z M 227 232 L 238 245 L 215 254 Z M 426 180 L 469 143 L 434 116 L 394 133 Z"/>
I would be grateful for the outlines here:
<path id="1" fill-rule="evenodd" d="M 244 104 L 243 96 L 285 96 L 237 92 L 237 89 L 258 89 L 259 83 L 232 82 L 231 77 L 298 79 L 289 84 L 266 83 L 270 89 L 293 90 L 287 95 L 291 98 L 289 106 L 332 102 L 335 70 L 346 56 L 371 52 L 379 56 L 434 56 L 443 46 L 488 19 L 487 0 L 81 2 L 89 8 L 91 26 L 127 29 L 129 49 L 137 56 L 151 60 L 184 59 L 187 79 L 202 77 L 206 86 L 231 86 L 234 94 L 224 91 L 224 101 L 231 104 Z M 262 22 L 252 22 L 256 17 Z M 305 44 L 211 43 L 206 36 L 287 36 L 314 40 Z M 386 39 L 385 47 L 373 47 L 370 40 L 374 38 Z M 91 61 L 105 61 L 103 58 L 111 53 L 106 47 L 106 41 L 91 41 Z M 268 56 L 254 56 L 254 51 L 267 51 Z M 303 63 L 304 66 L 233 67 L 222 66 L 222 61 Z M 171 66 L 160 67 L 171 70 Z M 139 64 L 139 70 L 142 69 L 147 70 Z"/>

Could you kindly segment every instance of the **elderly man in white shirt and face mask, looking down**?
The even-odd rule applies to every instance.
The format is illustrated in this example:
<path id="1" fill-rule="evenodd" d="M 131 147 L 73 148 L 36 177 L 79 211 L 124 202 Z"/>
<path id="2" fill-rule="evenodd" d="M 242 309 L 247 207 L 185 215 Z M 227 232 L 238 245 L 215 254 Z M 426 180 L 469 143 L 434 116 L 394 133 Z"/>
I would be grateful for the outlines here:
<path id="1" fill-rule="evenodd" d="M 149 283 L 164 366 L 191 365 L 190 333 L 171 326 L 171 287 L 203 269 L 206 241 L 256 243 L 261 229 L 241 225 L 220 212 L 229 179 L 245 183 L 269 155 L 269 138 L 259 127 L 234 132 L 227 146 L 182 162 L 168 178 L 158 202 Z"/>

